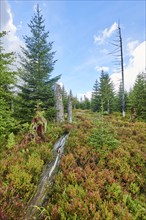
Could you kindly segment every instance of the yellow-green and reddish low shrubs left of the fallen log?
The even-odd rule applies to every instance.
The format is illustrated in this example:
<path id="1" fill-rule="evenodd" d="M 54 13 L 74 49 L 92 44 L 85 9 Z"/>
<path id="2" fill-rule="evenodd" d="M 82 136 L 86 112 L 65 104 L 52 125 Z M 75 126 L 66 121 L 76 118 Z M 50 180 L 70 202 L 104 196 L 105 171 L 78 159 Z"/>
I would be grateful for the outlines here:
<path id="1" fill-rule="evenodd" d="M 7 137 L 0 153 L 0 219 L 24 218 L 24 209 L 35 192 L 43 167 L 52 160 L 53 145 L 66 127 L 48 123 L 45 140 L 29 141 L 29 125 L 24 124 L 17 135 L 11 133 Z"/>

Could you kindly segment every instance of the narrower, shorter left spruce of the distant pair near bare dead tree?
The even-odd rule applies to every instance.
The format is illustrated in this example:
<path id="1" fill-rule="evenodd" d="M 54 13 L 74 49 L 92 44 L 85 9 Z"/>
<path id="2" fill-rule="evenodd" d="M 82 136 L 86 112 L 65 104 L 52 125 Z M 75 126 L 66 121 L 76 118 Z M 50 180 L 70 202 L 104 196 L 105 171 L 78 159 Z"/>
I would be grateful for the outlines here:
<path id="1" fill-rule="evenodd" d="M 92 97 L 91 97 L 91 109 L 94 112 L 100 111 L 99 83 L 97 79 L 93 86 L 93 92 L 92 92 Z"/>

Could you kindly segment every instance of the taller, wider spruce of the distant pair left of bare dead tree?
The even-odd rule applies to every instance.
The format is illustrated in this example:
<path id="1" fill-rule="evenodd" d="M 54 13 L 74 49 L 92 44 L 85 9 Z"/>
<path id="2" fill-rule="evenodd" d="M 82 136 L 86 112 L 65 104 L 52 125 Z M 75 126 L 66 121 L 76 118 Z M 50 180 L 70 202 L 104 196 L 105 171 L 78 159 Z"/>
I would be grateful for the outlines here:
<path id="1" fill-rule="evenodd" d="M 101 71 L 99 82 L 100 106 L 108 113 L 113 110 L 114 89 L 108 73 Z"/>

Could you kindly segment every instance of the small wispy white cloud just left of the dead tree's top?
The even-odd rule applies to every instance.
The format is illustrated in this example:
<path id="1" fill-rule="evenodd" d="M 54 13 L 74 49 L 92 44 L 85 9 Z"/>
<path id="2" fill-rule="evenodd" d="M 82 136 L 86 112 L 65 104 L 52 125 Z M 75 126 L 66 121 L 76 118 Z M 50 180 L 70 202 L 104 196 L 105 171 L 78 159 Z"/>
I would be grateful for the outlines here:
<path id="1" fill-rule="evenodd" d="M 111 37 L 112 34 L 117 30 L 118 24 L 114 22 L 110 28 L 105 28 L 101 34 L 94 35 L 94 42 L 102 44 L 107 38 Z"/>

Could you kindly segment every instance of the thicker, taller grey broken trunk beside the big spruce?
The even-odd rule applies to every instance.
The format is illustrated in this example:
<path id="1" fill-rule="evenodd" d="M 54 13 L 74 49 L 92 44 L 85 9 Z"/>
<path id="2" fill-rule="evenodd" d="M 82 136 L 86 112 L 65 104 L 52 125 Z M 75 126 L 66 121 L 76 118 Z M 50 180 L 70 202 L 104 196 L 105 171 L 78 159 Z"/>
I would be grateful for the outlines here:
<path id="1" fill-rule="evenodd" d="M 61 88 L 58 84 L 55 85 L 55 108 L 56 108 L 56 121 L 63 122 L 64 121 L 64 106 L 62 101 L 62 93 Z"/>

